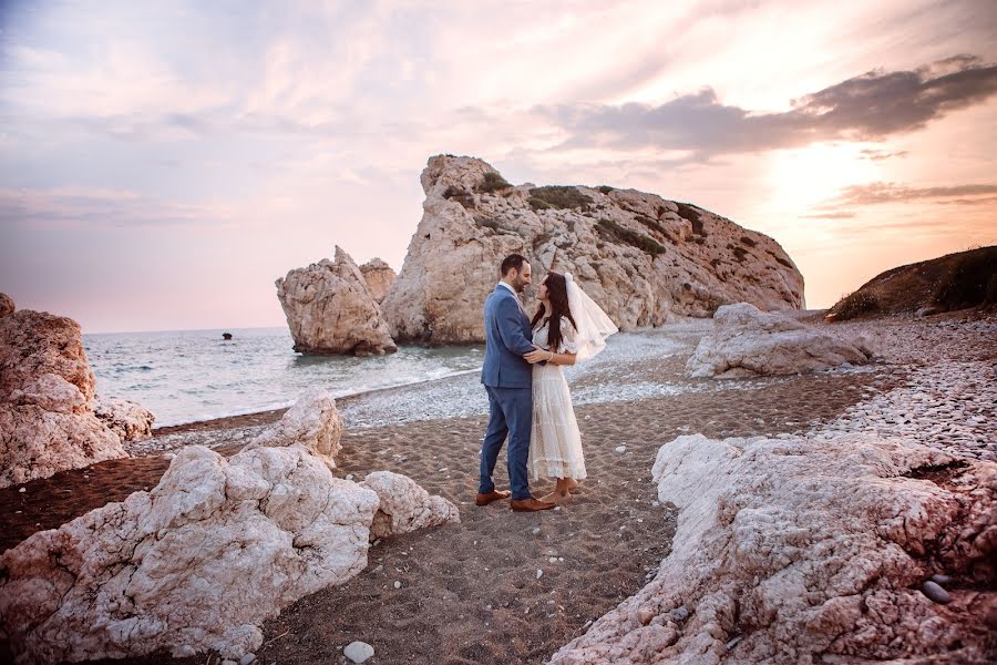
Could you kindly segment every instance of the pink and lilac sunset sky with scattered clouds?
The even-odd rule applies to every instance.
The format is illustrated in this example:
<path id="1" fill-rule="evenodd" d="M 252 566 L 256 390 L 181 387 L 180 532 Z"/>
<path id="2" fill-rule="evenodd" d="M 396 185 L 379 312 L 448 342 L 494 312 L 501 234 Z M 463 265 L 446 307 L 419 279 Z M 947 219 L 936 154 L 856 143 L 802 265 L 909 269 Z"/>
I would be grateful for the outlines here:
<path id="1" fill-rule="evenodd" d="M 285 325 L 399 270 L 426 160 L 692 202 L 823 308 L 997 244 L 993 0 L 0 0 L 0 291 L 84 332 Z"/>

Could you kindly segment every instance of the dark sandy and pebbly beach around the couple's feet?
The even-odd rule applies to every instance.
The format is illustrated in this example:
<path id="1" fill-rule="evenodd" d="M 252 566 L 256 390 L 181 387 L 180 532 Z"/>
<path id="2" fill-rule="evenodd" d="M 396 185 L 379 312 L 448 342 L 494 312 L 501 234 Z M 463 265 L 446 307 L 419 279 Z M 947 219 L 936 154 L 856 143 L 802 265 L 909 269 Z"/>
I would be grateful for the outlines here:
<path id="1" fill-rule="evenodd" d="M 359 640 L 374 647 L 368 661 L 373 664 L 543 663 L 636 593 L 668 555 L 678 511 L 657 501 L 650 482 L 662 444 L 690 432 L 722 438 L 849 428 L 857 422 L 856 409 L 888 401 L 895 391 L 916 385 L 919 372 L 945 362 L 958 365 L 966 376 L 980 374 L 983 381 L 987 371 L 994 372 L 993 315 L 837 327 L 864 328 L 880 344 L 876 360 L 864 368 L 764 379 L 687 379 L 685 361 L 709 329 L 708 321 L 692 321 L 655 331 L 670 341 L 668 352 L 579 375 L 572 389 L 589 478 L 568 504 L 546 513 L 513 513 L 503 503 L 474 505 L 485 418 L 462 412 L 454 406 L 461 400 L 448 396 L 466 396 L 463 402 L 473 411 L 474 400 L 483 398 L 476 376 L 341 400 L 347 431 L 335 473 L 357 479 L 382 469 L 404 473 L 430 493 L 453 501 L 462 523 L 373 543 L 360 575 L 300 600 L 265 624 L 258 662 L 345 663 L 342 648 Z M 613 399 L 614 391 L 624 399 Z M 987 407 L 986 395 L 980 399 L 979 405 L 963 399 L 967 416 L 954 419 L 963 428 L 957 447 L 974 457 L 997 452 L 994 405 Z M 435 417 L 433 408 L 420 405 L 451 405 L 456 417 Z M 0 549 L 151 489 L 168 467 L 169 451 L 178 447 L 204 443 L 223 454 L 235 453 L 280 415 L 163 428 L 136 447 L 131 459 L 0 490 Z M 891 427 L 918 427 L 917 416 L 894 423 L 886 413 L 872 424 L 888 434 Z M 936 439 L 939 446 L 950 444 L 953 434 L 946 428 Z M 507 487 L 504 454 L 498 467 L 496 484 Z M 532 489 L 538 494 L 552 484 L 534 483 Z M 162 654 L 107 662 L 193 664 L 220 658 Z"/>

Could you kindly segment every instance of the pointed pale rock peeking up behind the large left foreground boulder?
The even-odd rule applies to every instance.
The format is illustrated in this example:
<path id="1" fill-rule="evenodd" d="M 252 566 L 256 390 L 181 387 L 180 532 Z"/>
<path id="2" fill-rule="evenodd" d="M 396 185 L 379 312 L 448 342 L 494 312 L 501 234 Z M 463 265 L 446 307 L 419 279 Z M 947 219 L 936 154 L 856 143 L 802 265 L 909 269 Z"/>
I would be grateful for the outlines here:
<path id="1" fill-rule="evenodd" d="M 318 457 L 330 469 L 342 449 L 342 418 L 336 400 L 325 388 L 311 387 L 298 398 L 284 417 L 264 430 L 244 450 L 296 446 Z"/>

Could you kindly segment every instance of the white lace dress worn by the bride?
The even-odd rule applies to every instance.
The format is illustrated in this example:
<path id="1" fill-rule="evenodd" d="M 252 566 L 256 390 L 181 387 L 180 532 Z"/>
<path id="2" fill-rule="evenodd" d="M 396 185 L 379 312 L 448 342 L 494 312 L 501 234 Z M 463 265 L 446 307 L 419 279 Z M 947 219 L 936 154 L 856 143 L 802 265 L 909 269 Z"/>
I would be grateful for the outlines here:
<path id="1" fill-rule="evenodd" d="M 577 352 L 577 334 L 572 323 L 561 319 L 561 346 L 548 349 L 547 321 L 533 332 L 533 344 L 558 354 Z M 533 366 L 533 430 L 527 462 L 533 480 L 541 478 L 585 478 L 582 432 L 575 420 L 572 393 L 559 365 Z"/>

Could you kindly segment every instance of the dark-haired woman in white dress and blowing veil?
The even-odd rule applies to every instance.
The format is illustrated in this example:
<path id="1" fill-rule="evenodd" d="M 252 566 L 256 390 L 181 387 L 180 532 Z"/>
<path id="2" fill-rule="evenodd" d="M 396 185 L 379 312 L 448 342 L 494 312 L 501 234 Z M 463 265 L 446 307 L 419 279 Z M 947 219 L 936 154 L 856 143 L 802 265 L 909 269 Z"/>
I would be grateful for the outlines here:
<path id="1" fill-rule="evenodd" d="M 554 478 L 554 491 L 541 501 L 562 503 L 584 479 L 582 433 L 572 395 L 561 369 L 592 358 L 617 332 L 609 317 L 575 284 L 569 273 L 551 272 L 536 291 L 533 351 L 533 429 L 527 467 L 532 480 Z"/>

